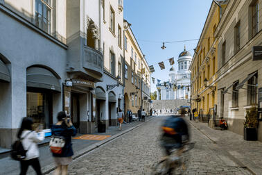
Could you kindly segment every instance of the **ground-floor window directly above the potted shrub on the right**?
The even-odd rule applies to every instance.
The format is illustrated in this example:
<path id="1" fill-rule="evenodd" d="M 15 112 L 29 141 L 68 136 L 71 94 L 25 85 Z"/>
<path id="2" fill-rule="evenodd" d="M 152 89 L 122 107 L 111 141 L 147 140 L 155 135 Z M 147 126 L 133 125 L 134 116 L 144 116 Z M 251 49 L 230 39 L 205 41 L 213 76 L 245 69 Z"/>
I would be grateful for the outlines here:
<path id="1" fill-rule="evenodd" d="M 257 74 L 247 81 L 247 105 L 256 104 Z"/>

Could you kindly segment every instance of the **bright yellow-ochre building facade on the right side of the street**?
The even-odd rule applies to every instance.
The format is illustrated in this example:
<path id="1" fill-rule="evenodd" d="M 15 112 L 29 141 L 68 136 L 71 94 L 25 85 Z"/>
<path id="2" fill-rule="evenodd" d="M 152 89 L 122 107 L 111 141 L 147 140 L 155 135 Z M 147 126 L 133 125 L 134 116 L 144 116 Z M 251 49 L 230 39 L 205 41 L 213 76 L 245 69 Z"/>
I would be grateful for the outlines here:
<path id="1" fill-rule="evenodd" d="M 208 116 L 216 115 L 218 72 L 218 38 L 214 37 L 220 22 L 220 10 L 214 1 L 211 4 L 200 40 L 195 49 L 191 66 L 191 109 L 196 109 L 200 120 L 206 122 Z"/>

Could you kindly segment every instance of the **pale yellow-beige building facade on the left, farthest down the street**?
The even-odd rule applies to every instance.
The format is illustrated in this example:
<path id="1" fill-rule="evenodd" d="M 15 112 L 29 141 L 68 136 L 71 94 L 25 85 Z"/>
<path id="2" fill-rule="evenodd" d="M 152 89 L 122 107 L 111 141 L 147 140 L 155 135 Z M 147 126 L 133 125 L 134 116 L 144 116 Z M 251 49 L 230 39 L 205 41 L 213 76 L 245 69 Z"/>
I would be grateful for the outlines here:
<path id="1" fill-rule="evenodd" d="M 124 50 L 124 111 L 126 114 L 129 109 L 132 113 L 136 114 L 141 106 L 144 108 L 145 105 L 148 105 L 146 101 L 143 101 L 143 91 L 149 94 L 150 72 L 146 59 L 131 28 L 125 31 Z M 141 72 L 142 69 L 143 71 Z"/>

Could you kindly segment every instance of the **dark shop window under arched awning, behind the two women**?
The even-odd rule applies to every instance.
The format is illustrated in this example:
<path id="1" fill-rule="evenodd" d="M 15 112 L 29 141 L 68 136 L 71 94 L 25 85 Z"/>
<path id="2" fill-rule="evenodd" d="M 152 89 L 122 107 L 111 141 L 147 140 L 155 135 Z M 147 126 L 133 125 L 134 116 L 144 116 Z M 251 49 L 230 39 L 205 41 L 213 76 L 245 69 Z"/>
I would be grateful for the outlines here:
<path id="1" fill-rule="evenodd" d="M 52 123 L 52 94 L 30 90 L 26 92 L 26 116 L 35 124 L 50 128 Z"/>

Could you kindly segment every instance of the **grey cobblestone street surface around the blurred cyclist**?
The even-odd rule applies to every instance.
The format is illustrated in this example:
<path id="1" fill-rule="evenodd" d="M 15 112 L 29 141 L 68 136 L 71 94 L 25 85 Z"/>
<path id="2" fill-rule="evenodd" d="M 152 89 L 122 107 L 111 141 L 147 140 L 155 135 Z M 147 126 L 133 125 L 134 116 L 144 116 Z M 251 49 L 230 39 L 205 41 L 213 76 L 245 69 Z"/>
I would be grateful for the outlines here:
<path id="1" fill-rule="evenodd" d="M 152 165 L 162 156 L 159 126 L 166 117 L 155 117 L 116 140 L 76 159 L 70 174 L 150 174 Z M 195 127 L 190 126 L 195 148 L 187 174 L 250 174 L 225 155 L 219 147 Z"/>

